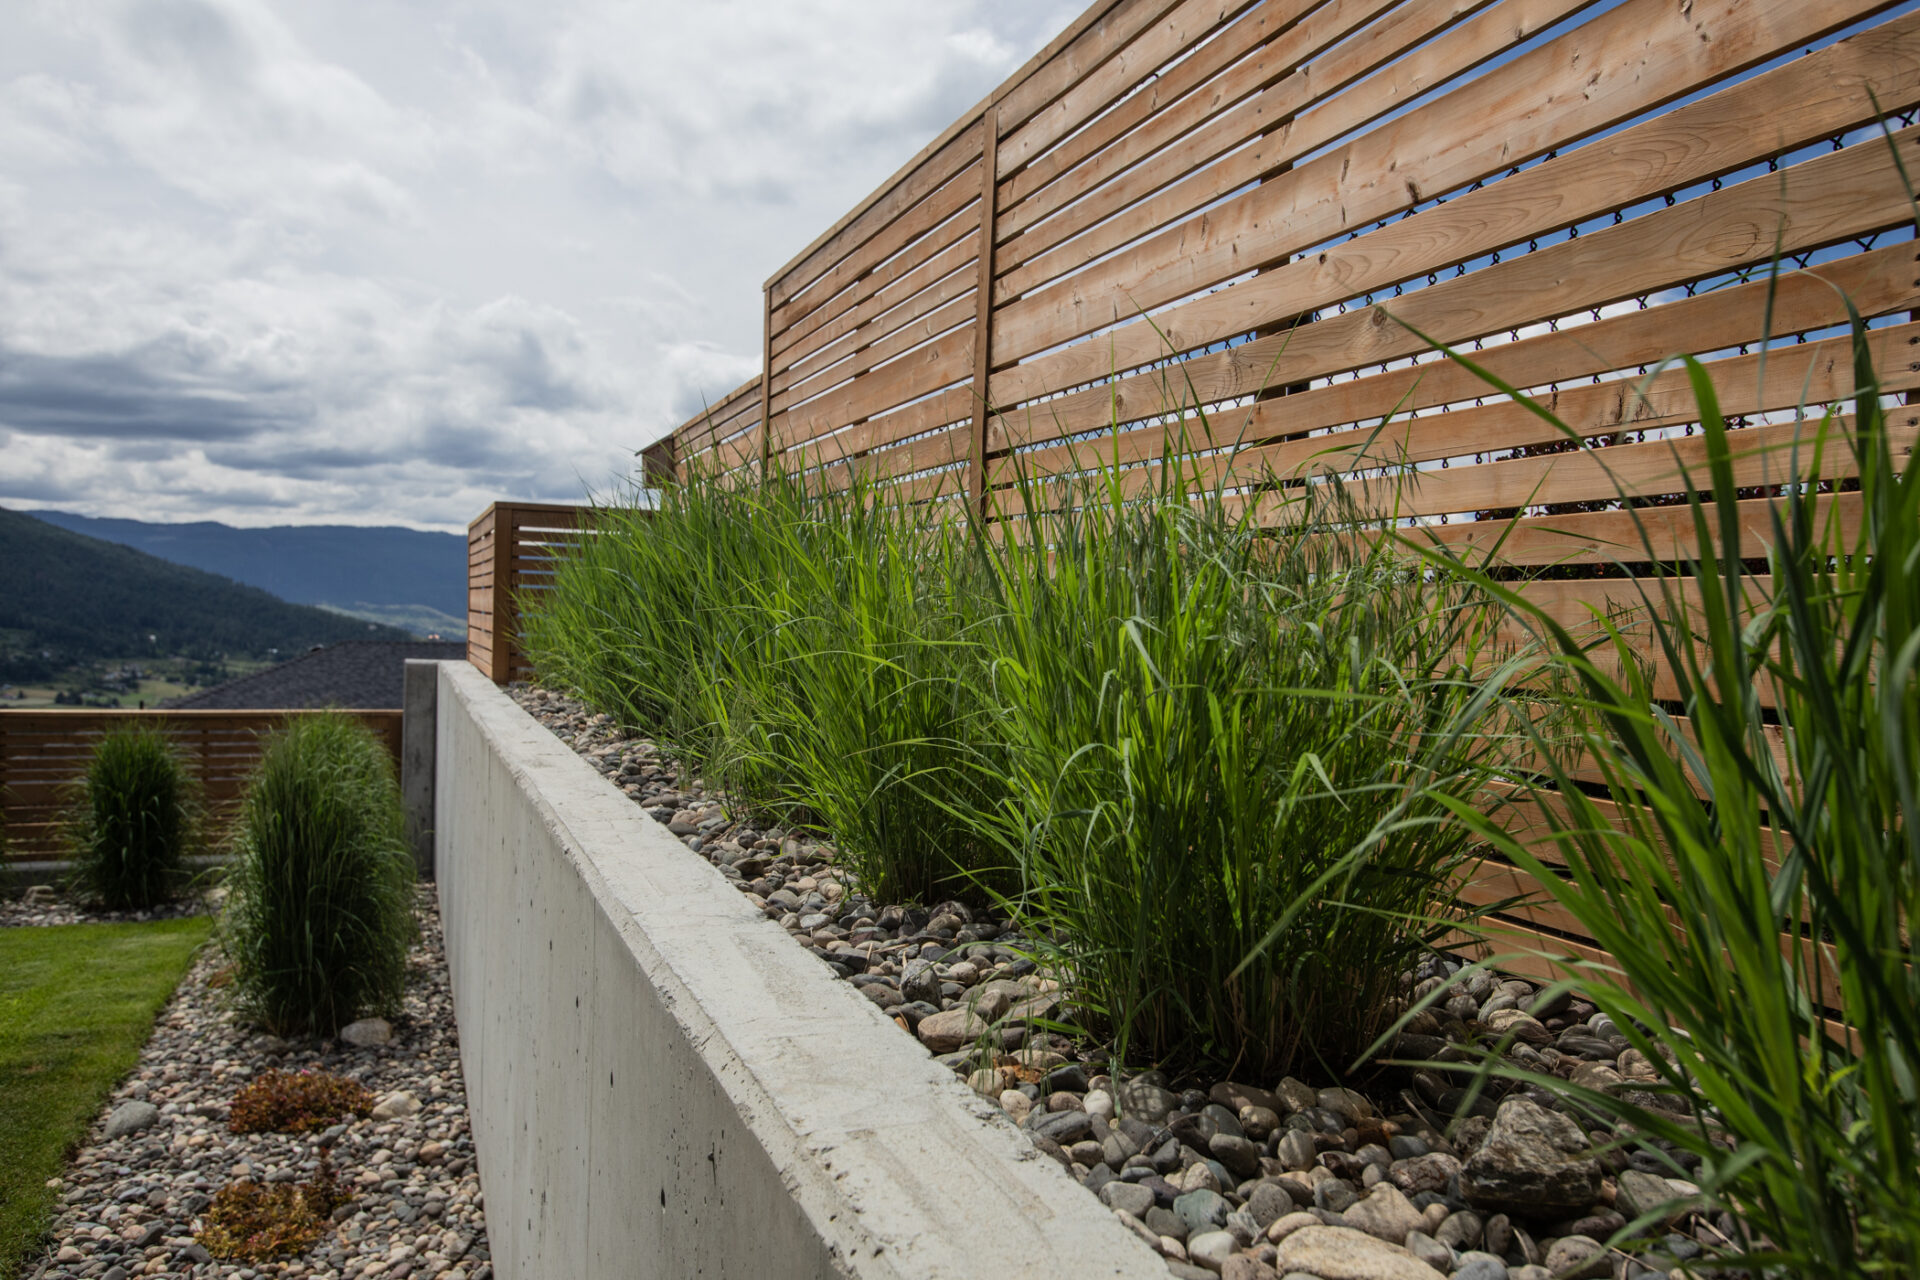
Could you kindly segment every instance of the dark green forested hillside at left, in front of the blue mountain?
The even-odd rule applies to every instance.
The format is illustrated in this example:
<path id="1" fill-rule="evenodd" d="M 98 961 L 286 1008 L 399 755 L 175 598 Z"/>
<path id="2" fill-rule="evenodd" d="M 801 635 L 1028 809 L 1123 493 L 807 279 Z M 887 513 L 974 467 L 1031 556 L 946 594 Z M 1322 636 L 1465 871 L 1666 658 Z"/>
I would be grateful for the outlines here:
<path id="1" fill-rule="evenodd" d="M 348 639 L 409 635 L 0 509 L 0 679 L 144 656 L 288 658 Z"/>

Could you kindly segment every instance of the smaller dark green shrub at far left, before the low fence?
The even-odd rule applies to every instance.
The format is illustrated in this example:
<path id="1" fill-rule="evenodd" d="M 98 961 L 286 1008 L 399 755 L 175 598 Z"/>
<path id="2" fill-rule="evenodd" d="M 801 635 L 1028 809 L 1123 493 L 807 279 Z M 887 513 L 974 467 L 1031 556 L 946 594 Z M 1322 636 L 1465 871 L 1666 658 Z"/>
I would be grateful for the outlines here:
<path id="1" fill-rule="evenodd" d="M 200 841 L 194 777 L 152 725 L 108 729 L 73 810 L 73 892 L 109 912 L 144 912 L 180 887 Z"/>

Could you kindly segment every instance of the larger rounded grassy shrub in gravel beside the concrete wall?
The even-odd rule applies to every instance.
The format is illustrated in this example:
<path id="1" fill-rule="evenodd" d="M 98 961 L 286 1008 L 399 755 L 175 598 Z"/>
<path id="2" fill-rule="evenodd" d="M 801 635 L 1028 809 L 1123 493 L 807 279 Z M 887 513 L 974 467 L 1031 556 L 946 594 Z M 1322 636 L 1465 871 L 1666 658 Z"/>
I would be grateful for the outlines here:
<path id="1" fill-rule="evenodd" d="M 267 743 L 234 821 L 223 942 L 242 1013 L 330 1034 L 390 1011 L 413 940 L 413 854 L 394 764 L 348 716 Z"/>

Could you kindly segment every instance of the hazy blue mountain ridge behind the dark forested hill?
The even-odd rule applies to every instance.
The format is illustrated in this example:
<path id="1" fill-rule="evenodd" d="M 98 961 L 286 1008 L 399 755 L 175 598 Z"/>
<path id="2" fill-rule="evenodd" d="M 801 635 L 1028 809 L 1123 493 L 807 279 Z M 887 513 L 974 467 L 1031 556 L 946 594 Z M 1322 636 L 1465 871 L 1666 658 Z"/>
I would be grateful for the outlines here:
<path id="1" fill-rule="evenodd" d="M 344 524 L 240 530 L 25 512 L 73 533 L 221 574 L 296 604 L 321 604 L 449 639 L 467 626 L 467 537 Z"/>

